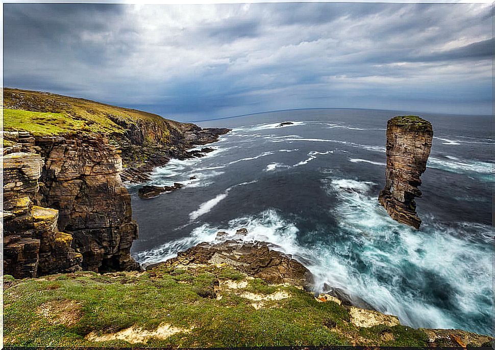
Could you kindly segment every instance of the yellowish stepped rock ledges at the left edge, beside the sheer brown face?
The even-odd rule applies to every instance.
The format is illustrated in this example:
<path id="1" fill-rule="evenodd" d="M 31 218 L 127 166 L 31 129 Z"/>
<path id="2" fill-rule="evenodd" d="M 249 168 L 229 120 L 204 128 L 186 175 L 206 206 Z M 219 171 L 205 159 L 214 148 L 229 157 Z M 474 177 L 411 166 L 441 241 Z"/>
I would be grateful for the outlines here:
<path id="1" fill-rule="evenodd" d="M 39 154 L 4 156 L 4 274 L 17 278 L 81 270 L 72 235 L 58 230 L 59 211 L 35 205 L 42 166 Z"/>

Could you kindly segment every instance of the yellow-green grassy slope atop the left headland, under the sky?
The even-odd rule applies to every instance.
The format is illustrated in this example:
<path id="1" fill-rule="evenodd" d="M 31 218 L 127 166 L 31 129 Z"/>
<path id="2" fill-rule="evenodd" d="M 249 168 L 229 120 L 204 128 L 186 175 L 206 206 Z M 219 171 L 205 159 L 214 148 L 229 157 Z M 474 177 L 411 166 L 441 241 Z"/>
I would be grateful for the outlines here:
<path id="1" fill-rule="evenodd" d="M 4 129 L 30 131 L 37 135 L 68 132 L 120 133 L 119 120 L 155 122 L 172 127 L 180 123 L 156 114 L 112 106 L 82 98 L 46 92 L 4 89 Z"/>

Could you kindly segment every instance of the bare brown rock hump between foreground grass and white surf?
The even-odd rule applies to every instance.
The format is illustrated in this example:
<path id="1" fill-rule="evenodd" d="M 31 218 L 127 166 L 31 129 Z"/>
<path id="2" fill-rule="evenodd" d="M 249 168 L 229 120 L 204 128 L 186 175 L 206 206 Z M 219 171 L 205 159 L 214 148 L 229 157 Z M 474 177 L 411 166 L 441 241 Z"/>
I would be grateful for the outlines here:
<path id="1" fill-rule="evenodd" d="M 236 235 L 229 237 L 226 232 L 218 232 L 215 242 L 201 243 L 159 264 L 228 264 L 240 272 L 270 283 L 309 285 L 312 282 L 312 275 L 303 264 L 289 255 L 270 249 L 266 242 L 242 241 L 239 236 L 246 233 L 246 229 L 240 229 Z M 147 266 L 147 269 L 156 265 Z"/>

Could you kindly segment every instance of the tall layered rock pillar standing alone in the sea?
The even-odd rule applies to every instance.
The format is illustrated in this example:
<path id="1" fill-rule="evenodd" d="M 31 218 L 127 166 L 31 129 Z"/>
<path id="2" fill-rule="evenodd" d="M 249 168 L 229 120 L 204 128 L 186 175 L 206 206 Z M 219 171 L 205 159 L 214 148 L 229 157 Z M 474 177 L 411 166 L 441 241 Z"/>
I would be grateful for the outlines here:
<path id="1" fill-rule="evenodd" d="M 417 188 L 426 170 L 433 139 L 433 128 L 417 116 L 399 116 L 387 122 L 387 170 L 385 188 L 378 200 L 389 216 L 400 223 L 419 229 L 416 213 Z"/>

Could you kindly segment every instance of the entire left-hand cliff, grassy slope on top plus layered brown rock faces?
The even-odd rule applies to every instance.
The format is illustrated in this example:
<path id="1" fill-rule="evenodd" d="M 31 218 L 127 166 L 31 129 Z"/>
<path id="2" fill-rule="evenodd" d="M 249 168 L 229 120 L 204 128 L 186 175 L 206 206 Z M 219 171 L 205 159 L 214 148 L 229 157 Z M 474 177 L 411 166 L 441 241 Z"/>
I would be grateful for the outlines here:
<path id="1" fill-rule="evenodd" d="M 122 180 L 145 180 L 228 131 L 71 97 L 4 93 L 4 268 L 16 278 L 139 270 Z"/>

